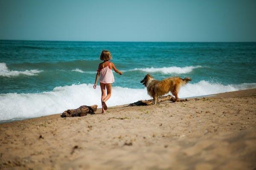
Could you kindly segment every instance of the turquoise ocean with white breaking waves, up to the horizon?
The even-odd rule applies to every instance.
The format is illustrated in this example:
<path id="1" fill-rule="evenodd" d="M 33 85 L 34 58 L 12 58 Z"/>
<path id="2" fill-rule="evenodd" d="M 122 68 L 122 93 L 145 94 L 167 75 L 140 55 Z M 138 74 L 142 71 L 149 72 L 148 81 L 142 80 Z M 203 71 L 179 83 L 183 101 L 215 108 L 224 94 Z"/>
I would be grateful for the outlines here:
<path id="1" fill-rule="evenodd" d="M 179 76 L 192 81 L 180 98 L 256 88 L 256 42 L 72 42 L 0 40 L 0 121 L 81 105 L 101 108 L 93 89 L 99 55 L 111 51 L 115 74 L 108 106 L 150 99 L 140 81 Z"/>

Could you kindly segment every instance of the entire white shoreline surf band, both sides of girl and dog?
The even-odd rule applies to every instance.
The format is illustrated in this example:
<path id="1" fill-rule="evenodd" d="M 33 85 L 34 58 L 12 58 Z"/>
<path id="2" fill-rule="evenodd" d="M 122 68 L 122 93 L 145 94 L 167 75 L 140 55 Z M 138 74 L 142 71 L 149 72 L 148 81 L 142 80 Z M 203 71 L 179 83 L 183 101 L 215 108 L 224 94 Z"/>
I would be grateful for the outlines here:
<path id="1" fill-rule="evenodd" d="M 203 96 L 209 94 L 256 88 L 256 83 L 240 85 L 221 85 L 200 81 L 187 84 L 180 89 L 179 97 Z M 70 85 L 56 87 L 50 92 L 35 94 L 0 94 L 0 120 L 31 118 L 62 113 L 67 109 L 78 108 L 81 105 L 100 104 L 101 91 L 92 84 Z M 137 102 L 140 99 L 150 99 L 146 89 L 113 87 L 108 106 L 123 105 Z"/>

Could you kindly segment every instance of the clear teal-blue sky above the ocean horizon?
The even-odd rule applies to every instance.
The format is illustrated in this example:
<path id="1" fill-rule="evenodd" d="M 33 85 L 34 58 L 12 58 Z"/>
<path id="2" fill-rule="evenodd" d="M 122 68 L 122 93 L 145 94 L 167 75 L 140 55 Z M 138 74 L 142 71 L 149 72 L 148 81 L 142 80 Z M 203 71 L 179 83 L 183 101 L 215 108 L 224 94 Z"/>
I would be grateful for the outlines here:
<path id="1" fill-rule="evenodd" d="M 256 41 L 256 0 L 0 0 L 0 40 Z"/>

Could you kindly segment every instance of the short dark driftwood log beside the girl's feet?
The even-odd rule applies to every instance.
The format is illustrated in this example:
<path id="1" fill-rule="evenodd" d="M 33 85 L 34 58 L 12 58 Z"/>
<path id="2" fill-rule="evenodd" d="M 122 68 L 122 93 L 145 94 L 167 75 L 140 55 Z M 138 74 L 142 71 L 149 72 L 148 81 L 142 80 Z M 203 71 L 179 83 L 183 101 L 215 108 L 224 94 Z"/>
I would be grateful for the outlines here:
<path id="1" fill-rule="evenodd" d="M 77 109 L 69 109 L 64 111 L 61 117 L 75 117 L 75 116 L 86 116 L 87 113 L 94 113 L 97 110 L 97 105 L 93 106 L 80 106 Z"/>

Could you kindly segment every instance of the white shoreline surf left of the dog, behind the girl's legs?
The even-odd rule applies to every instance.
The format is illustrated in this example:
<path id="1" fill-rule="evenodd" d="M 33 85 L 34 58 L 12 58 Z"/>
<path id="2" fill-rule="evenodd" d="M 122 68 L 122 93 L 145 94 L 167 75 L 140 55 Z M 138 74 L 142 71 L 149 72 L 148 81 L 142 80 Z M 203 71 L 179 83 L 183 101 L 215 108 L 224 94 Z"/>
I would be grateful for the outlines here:
<path id="1" fill-rule="evenodd" d="M 37 94 L 0 94 L 0 120 L 29 118 L 61 113 L 81 105 L 98 105 L 101 90 L 98 86 L 81 84 L 56 87 L 53 91 Z M 139 99 L 149 99 L 145 89 L 113 87 L 109 106 L 131 103 Z"/>

